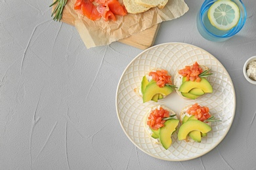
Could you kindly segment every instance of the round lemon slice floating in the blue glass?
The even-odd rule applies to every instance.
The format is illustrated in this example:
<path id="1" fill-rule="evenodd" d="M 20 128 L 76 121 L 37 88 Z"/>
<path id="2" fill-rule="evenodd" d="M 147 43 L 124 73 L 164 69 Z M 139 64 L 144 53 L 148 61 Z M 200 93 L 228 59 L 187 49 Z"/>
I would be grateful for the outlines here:
<path id="1" fill-rule="evenodd" d="M 236 3 L 230 0 L 219 0 L 213 3 L 207 16 L 211 25 L 220 30 L 229 30 L 238 24 L 240 10 Z"/>

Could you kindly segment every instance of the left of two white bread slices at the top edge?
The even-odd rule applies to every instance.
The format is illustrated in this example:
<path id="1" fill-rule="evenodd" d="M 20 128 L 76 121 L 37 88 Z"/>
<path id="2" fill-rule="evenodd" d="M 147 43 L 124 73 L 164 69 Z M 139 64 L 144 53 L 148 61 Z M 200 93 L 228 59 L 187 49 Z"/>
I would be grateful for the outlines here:
<path id="1" fill-rule="evenodd" d="M 135 0 L 123 0 L 123 5 L 125 5 L 127 12 L 131 14 L 139 14 L 150 9 L 150 7 L 144 7 L 139 5 L 139 3 L 135 3 Z"/>

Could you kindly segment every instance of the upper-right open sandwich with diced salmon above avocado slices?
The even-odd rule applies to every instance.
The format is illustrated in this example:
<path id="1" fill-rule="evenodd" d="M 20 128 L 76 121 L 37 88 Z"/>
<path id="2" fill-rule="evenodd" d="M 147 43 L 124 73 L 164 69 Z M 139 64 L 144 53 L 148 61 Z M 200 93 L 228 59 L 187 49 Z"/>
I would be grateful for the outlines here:
<path id="1" fill-rule="evenodd" d="M 199 65 L 198 62 L 179 70 L 174 78 L 177 93 L 185 99 L 197 99 L 205 93 L 212 93 L 213 87 L 206 79 L 212 75 L 209 71 L 205 65 Z"/>

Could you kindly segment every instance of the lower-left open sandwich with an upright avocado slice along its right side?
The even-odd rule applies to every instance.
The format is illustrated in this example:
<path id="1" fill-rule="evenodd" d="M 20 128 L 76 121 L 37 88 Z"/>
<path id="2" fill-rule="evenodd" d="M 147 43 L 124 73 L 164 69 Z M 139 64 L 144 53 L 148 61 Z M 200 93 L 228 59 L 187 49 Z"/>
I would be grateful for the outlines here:
<path id="1" fill-rule="evenodd" d="M 171 146 L 171 135 L 178 125 L 179 120 L 175 112 L 162 105 L 152 107 L 144 117 L 146 133 L 154 139 L 155 143 L 161 144 L 165 149 Z"/>

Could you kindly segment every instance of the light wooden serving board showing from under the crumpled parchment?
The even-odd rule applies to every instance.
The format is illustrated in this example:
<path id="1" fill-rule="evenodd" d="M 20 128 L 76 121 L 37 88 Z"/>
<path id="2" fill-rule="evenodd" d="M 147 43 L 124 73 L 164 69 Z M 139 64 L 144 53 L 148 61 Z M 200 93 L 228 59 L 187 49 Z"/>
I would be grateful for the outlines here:
<path id="1" fill-rule="evenodd" d="M 68 1 L 67 3 L 71 3 L 71 1 Z M 65 9 L 63 10 L 62 22 L 65 22 L 66 24 L 70 24 L 70 25 L 75 25 L 75 19 L 76 18 L 74 18 L 74 16 L 72 16 L 72 14 L 70 14 L 68 10 L 65 10 Z M 130 46 L 134 46 L 141 50 L 145 50 L 146 48 L 149 48 L 154 44 L 156 35 L 158 34 L 159 27 L 160 27 L 160 24 L 156 24 L 140 33 L 137 33 L 136 35 L 132 35 L 125 39 L 121 39 L 119 40 L 119 42 L 128 44 Z"/>

